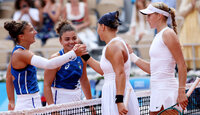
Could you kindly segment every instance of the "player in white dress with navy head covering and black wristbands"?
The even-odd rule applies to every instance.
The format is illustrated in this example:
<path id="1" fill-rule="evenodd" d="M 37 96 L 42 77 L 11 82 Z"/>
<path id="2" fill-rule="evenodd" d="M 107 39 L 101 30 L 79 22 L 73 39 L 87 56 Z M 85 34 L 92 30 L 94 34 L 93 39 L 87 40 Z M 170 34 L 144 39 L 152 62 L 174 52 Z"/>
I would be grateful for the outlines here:
<path id="1" fill-rule="evenodd" d="M 88 56 L 87 63 L 104 76 L 102 88 L 102 115 L 139 115 L 137 97 L 129 82 L 130 55 L 125 42 L 116 36 L 120 23 L 119 12 L 104 14 L 98 21 L 97 32 L 106 42 L 100 63 Z M 128 106 L 123 97 L 131 89 Z"/>

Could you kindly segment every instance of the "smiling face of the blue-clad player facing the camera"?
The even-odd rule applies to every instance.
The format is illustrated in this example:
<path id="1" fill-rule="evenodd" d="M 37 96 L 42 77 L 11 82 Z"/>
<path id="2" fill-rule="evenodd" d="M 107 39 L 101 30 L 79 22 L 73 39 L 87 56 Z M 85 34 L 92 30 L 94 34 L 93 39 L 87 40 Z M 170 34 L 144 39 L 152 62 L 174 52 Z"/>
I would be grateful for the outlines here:
<path id="1" fill-rule="evenodd" d="M 64 32 L 61 36 L 60 43 L 66 51 L 72 50 L 74 45 L 78 43 L 75 31 Z"/>

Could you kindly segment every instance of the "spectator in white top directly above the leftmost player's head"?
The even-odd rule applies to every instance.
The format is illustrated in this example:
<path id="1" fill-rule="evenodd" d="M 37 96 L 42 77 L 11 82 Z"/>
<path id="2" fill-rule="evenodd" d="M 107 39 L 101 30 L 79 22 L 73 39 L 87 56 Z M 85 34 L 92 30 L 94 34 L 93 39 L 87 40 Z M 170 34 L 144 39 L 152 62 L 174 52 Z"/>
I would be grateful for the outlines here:
<path id="1" fill-rule="evenodd" d="M 39 11 L 36 8 L 31 8 L 30 0 L 16 0 L 15 1 L 15 11 L 13 15 L 13 20 L 22 20 L 30 22 L 34 27 L 38 25 L 39 22 Z"/>

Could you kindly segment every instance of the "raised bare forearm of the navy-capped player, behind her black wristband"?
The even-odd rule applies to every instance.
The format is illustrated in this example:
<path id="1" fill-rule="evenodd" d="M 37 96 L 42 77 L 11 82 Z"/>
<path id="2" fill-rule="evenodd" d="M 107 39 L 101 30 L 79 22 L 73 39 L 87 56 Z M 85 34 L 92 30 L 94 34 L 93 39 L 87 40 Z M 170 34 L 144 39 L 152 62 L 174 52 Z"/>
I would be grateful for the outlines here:
<path id="1" fill-rule="evenodd" d="M 87 61 L 88 65 L 94 69 L 97 73 L 103 75 L 103 71 L 100 67 L 100 63 L 96 61 L 94 58 L 90 57 L 90 59 Z"/>

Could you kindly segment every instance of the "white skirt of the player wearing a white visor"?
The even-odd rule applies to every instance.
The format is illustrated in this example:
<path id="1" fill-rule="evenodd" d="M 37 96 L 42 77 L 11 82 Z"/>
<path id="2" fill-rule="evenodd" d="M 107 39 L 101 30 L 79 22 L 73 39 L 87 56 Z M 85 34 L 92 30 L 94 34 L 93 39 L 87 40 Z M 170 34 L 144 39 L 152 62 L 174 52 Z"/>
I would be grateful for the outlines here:
<path id="1" fill-rule="evenodd" d="M 150 111 L 160 111 L 176 104 L 178 97 L 178 82 L 175 77 L 168 79 L 151 79 Z"/>

